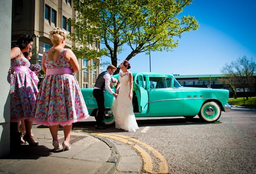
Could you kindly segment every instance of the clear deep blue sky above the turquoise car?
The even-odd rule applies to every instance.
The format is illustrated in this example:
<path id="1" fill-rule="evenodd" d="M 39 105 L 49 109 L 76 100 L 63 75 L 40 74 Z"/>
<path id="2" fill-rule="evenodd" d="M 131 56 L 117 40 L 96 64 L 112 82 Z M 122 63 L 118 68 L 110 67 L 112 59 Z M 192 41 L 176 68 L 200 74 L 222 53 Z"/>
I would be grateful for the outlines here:
<path id="1" fill-rule="evenodd" d="M 151 72 L 221 74 L 225 63 L 244 55 L 256 62 L 256 0 L 194 0 L 181 15 L 195 16 L 200 27 L 183 34 L 174 51 L 151 51 Z M 118 55 L 119 62 L 128 53 Z M 111 62 L 110 58 L 102 61 Z M 129 62 L 131 72 L 150 71 L 145 53 Z"/>

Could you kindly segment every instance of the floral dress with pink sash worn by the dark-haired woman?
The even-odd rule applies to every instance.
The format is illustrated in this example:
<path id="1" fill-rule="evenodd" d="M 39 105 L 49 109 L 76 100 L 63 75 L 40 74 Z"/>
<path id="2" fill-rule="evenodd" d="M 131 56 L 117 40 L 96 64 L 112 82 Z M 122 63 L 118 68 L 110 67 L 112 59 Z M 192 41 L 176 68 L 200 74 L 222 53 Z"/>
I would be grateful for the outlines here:
<path id="1" fill-rule="evenodd" d="M 11 122 L 19 122 L 24 119 L 34 120 L 35 116 L 32 115 L 32 109 L 34 108 L 35 98 L 38 93 L 37 85 L 29 71 L 13 71 L 12 69 L 15 66 L 24 66 L 29 70 L 30 63 L 21 52 L 20 57 L 11 59 Z"/>

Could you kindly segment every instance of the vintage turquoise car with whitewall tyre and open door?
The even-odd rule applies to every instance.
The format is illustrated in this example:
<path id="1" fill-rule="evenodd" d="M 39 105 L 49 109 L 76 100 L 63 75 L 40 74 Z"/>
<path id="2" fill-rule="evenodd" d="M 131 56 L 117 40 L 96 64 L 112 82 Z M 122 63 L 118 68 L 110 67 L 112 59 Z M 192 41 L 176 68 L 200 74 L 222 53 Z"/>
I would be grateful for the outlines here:
<path id="1" fill-rule="evenodd" d="M 173 75 L 167 73 L 132 73 L 134 77 L 133 107 L 135 117 L 193 118 L 196 115 L 206 122 L 217 121 L 221 111 L 230 112 L 227 103 L 229 91 L 223 89 L 182 87 Z M 118 74 L 114 75 L 118 79 Z M 115 88 L 113 87 L 113 91 Z M 81 89 L 91 116 L 97 115 L 93 89 Z M 106 124 L 114 122 L 111 107 L 113 95 L 105 92 Z"/>

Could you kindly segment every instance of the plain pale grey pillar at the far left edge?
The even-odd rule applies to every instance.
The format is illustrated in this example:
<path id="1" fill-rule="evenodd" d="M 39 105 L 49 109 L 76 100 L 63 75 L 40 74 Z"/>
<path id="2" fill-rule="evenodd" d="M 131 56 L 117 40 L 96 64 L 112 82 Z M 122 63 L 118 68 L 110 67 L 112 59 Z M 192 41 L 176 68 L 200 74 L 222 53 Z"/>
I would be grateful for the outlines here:
<path id="1" fill-rule="evenodd" d="M 12 0 L 2 0 L 0 6 L 0 157 L 10 152 L 10 51 L 12 36 Z"/>

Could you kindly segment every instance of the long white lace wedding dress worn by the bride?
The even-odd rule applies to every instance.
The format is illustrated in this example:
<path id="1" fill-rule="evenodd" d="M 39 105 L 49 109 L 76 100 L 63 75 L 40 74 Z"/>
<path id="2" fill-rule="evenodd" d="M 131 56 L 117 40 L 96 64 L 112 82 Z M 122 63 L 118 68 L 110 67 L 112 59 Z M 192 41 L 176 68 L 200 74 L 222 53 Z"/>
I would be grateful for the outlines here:
<path id="1" fill-rule="evenodd" d="M 115 117 L 116 129 L 124 129 L 129 132 L 135 132 L 139 129 L 133 112 L 132 99 L 129 98 L 130 84 L 129 72 L 120 72 L 118 96 L 113 105 L 113 115 Z"/>

